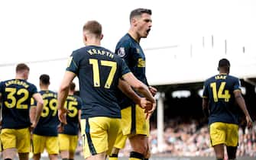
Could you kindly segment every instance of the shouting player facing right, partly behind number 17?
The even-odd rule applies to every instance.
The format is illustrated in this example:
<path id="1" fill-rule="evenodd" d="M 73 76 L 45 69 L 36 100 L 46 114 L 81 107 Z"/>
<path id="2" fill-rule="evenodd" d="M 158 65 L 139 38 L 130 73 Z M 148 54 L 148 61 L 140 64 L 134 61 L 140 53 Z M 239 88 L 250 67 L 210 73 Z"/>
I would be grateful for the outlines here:
<path id="1" fill-rule="evenodd" d="M 118 41 L 115 53 L 122 57 L 131 72 L 141 82 L 147 86 L 147 78 L 145 75 L 145 56 L 141 49 L 140 40 L 146 38 L 152 26 L 151 10 L 146 8 L 137 8 L 131 11 L 130 14 L 130 29 L 128 33 Z M 157 92 L 156 88 L 148 87 L 154 95 Z M 122 129 L 118 133 L 118 138 L 115 142 L 115 148 L 112 151 L 110 160 L 118 159 L 119 149 L 125 147 L 125 141 L 128 137 L 132 152 L 130 159 L 147 159 L 150 157 L 150 147 L 148 136 L 150 132 L 149 120 L 145 119 L 144 110 L 134 104 L 130 98 L 121 94 L 119 105 L 122 108 Z"/>

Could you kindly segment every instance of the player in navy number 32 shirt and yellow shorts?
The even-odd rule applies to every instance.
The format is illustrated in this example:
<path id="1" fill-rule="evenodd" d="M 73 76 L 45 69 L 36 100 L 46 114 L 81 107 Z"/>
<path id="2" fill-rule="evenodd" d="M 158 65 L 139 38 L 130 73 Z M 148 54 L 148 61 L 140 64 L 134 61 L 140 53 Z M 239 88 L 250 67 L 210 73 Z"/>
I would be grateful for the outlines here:
<path id="1" fill-rule="evenodd" d="M 21 160 L 28 160 L 31 145 L 30 130 L 37 125 L 43 109 L 43 99 L 35 85 L 28 82 L 29 67 L 20 63 L 16 66 L 16 75 L 0 83 L 2 99 L 2 132 L 3 159 L 12 160 L 18 150 Z M 29 117 L 31 98 L 37 101 L 34 120 Z M 17 149 L 17 150 L 16 150 Z"/>

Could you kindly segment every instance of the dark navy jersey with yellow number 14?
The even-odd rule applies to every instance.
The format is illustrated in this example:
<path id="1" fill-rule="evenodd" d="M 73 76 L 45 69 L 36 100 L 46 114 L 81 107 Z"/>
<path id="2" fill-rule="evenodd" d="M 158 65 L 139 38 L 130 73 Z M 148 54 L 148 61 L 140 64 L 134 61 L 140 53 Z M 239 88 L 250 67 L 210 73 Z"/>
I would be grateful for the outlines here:
<path id="1" fill-rule="evenodd" d="M 204 83 L 203 98 L 209 100 L 209 124 L 213 122 L 238 124 L 239 108 L 234 91 L 240 91 L 238 78 L 232 75 L 215 75 Z"/>

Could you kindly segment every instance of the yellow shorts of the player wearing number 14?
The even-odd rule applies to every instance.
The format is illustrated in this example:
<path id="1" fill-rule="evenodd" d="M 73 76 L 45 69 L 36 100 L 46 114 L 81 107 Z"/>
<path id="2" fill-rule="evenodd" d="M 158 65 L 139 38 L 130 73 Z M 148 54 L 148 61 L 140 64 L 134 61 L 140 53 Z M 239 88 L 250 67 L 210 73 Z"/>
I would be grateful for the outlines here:
<path id="1" fill-rule="evenodd" d="M 225 146 L 238 146 L 237 124 L 215 122 L 209 127 L 211 146 L 219 144 L 225 144 Z"/>

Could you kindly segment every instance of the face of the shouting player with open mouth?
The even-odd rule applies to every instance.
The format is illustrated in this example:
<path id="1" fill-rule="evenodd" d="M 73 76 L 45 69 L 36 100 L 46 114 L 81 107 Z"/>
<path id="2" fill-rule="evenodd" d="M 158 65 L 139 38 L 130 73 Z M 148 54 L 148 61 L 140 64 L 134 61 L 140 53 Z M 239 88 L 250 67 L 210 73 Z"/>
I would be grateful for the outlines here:
<path id="1" fill-rule="evenodd" d="M 138 36 L 146 38 L 152 27 L 151 14 L 144 13 L 134 19 L 134 27 L 137 30 Z"/>

